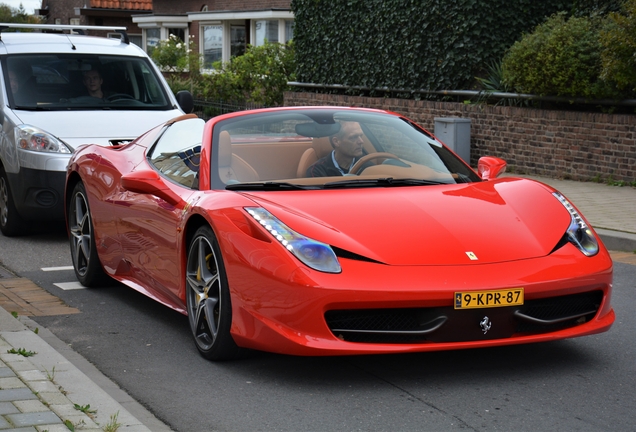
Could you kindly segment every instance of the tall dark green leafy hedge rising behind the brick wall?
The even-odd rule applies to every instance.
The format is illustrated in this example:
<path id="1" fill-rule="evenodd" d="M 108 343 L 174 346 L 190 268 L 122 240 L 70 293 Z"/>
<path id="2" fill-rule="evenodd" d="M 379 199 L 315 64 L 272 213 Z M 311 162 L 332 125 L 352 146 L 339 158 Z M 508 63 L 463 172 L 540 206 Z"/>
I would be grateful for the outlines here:
<path id="1" fill-rule="evenodd" d="M 574 0 L 292 0 L 300 82 L 466 89 Z"/>

